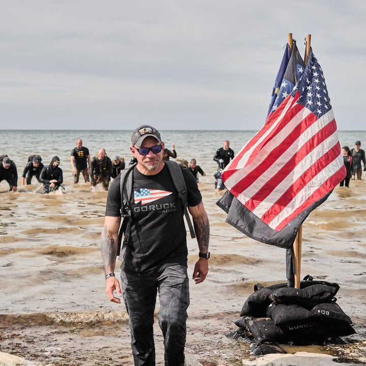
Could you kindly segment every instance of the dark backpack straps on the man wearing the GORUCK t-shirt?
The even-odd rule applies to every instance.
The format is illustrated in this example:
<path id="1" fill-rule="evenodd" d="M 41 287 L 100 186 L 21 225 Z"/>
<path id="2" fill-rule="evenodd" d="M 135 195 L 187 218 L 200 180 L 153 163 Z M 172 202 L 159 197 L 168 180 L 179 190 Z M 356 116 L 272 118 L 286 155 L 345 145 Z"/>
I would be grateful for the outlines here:
<path id="1" fill-rule="evenodd" d="M 190 230 L 191 238 L 195 238 L 196 234 L 189 217 L 188 213 L 188 198 L 187 198 L 187 186 L 183 177 L 183 173 L 181 172 L 181 167 L 173 162 L 173 161 L 165 161 L 164 162 L 169 170 L 170 176 L 173 180 L 174 188 L 177 191 L 178 198 L 180 198 L 184 210 L 184 215 L 186 217 L 186 221 Z M 128 168 L 124 169 L 120 172 L 120 195 L 121 195 L 121 217 L 123 221 L 119 228 L 118 233 L 118 255 L 120 255 L 121 247 L 122 247 L 122 237 L 125 236 L 124 244 L 127 245 L 130 235 L 130 225 L 131 225 L 131 209 L 130 202 L 132 199 L 132 191 L 133 191 L 133 168 L 137 165 L 137 163 L 130 165 Z"/>

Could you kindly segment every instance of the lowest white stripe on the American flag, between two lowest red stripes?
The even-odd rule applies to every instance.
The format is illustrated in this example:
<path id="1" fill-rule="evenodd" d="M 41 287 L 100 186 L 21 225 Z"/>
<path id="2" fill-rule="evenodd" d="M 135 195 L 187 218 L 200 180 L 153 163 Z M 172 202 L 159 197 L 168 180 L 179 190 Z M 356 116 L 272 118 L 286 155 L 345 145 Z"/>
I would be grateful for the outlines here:
<path id="1" fill-rule="evenodd" d="M 324 182 L 331 175 L 340 170 L 343 165 L 343 159 L 333 160 L 327 167 L 320 171 L 319 174 L 317 174 L 306 186 L 302 188 L 302 190 L 293 198 L 291 202 L 289 202 L 289 204 L 281 211 L 281 213 L 269 223 L 268 226 L 272 229 L 276 229 L 276 227 L 280 225 L 284 219 L 292 215 L 293 211 L 297 207 L 301 206 L 304 200 L 310 197 L 319 188 L 319 181 Z"/>

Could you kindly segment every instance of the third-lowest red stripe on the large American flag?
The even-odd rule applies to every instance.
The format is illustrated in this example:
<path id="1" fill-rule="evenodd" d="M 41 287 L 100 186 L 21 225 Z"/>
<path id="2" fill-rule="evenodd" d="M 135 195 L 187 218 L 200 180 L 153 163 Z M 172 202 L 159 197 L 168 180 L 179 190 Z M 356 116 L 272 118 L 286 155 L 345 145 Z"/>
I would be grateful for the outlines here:
<path id="1" fill-rule="evenodd" d="M 311 151 L 313 151 L 319 144 L 331 136 L 337 126 L 333 119 L 324 128 L 322 128 L 316 135 L 312 136 L 304 145 L 302 145 L 298 151 L 288 160 L 288 162 L 268 181 L 263 187 L 254 194 L 251 199 L 245 204 L 245 206 L 253 211 L 281 182 L 293 171 L 293 169 L 299 164 Z"/>

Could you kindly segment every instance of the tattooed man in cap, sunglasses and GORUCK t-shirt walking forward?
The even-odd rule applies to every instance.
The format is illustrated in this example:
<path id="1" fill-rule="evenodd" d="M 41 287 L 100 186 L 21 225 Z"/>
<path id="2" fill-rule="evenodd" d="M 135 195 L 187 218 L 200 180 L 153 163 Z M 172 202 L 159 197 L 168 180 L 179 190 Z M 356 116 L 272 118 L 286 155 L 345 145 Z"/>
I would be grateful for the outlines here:
<path id="1" fill-rule="evenodd" d="M 164 142 L 159 132 L 151 126 L 140 126 L 133 132 L 131 142 L 137 165 L 130 172 L 133 195 L 128 205 L 131 218 L 120 254 L 121 287 L 114 276 L 121 220 L 121 174 L 111 183 L 107 198 L 101 241 L 106 293 L 116 303 L 120 299 L 113 291 L 119 296 L 123 293 L 135 365 L 153 365 L 154 310 L 159 289 L 158 319 L 164 336 L 165 364 L 184 365 L 189 305 L 184 208 L 163 161 Z M 188 169 L 181 172 L 200 252 L 193 279 L 201 283 L 208 272 L 208 218 L 194 176 Z"/>

